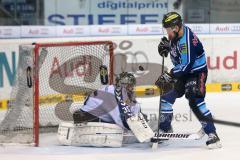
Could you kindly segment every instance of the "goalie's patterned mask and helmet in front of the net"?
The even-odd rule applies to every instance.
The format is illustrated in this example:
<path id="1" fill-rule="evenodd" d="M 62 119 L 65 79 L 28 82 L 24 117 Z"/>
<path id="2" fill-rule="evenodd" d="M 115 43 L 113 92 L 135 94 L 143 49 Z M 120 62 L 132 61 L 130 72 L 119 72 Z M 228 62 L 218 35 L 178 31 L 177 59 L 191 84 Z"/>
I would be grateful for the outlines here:
<path id="1" fill-rule="evenodd" d="M 122 72 L 116 77 L 116 85 L 118 87 L 124 87 L 127 90 L 133 90 L 136 85 L 136 78 L 131 73 Z"/>

